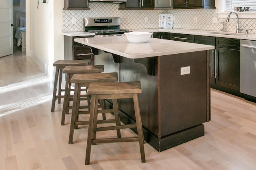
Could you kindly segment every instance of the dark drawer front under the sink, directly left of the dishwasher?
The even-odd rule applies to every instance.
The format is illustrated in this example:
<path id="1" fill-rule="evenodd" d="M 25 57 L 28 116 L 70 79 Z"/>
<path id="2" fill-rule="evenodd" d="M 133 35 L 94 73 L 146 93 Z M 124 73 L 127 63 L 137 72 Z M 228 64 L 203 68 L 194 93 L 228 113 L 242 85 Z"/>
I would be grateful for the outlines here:
<path id="1" fill-rule="evenodd" d="M 216 47 L 240 50 L 240 39 L 216 37 Z"/>

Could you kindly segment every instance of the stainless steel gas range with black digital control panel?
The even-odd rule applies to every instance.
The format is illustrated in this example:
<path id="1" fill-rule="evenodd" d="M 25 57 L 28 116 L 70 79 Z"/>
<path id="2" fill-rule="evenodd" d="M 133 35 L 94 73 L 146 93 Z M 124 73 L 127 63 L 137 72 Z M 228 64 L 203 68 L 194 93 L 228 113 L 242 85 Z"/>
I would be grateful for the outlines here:
<path id="1" fill-rule="evenodd" d="M 95 37 L 124 35 L 128 29 L 120 29 L 120 18 L 84 18 L 84 31 L 95 33 Z"/>

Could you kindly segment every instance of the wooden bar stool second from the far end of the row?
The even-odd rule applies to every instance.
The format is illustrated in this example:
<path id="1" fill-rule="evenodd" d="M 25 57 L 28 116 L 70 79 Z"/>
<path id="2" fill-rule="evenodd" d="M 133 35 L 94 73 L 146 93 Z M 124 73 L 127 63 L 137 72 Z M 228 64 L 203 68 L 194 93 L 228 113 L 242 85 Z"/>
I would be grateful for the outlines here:
<path id="1" fill-rule="evenodd" d="M 64 92 L 64 102 L 62 109 L 62 118 L 61 125 L 65 124 L 65 114 L 68 114 L 69 109 L 72 109 L 70 106 L 70 101 L 73 100 L 73 96 L 70 95 L 71 92 L 71 78 L 74 74 L 88 74 L 88 73 L 101 73 L 104 71 L 104 65 L 96 65 L 96 66 L 66 66 L 63 70 L 63 73 L 66 73 L 66 85 Z M 87 88 L 87 87 L 86 87 Z M 80 96 L 82 97 L 82 96 Z M 84 95 L 85 98 L 80 100 L 90 100 L 88 95 Z M 80 107 L 80 108 L 88 108 L 90 106 Z M 105 115 L 104 115 L 105 116 Z"/>

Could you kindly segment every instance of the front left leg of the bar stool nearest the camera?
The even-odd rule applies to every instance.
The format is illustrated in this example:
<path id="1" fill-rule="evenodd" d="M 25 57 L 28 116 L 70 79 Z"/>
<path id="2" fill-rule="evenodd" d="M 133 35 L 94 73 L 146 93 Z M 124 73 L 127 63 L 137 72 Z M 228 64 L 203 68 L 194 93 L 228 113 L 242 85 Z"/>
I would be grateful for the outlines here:
<path id="1" fill-rule="evenodd" d="M 93 132 L 93 129 L 95 129 L 94 124 L 96 124 L 96 126 L 97 126 L 97 112 L 98 112 L 98 100 L 96 100 L 96 95 L 92 95 L 89 127 L 88 127 L 88 138 L 87 138 L 86 155 L 85 155 L 85 164 L 86 165 L 88 165 L 90 163 L 92 138 L 95 139 L 95 137 L 93 137 L 93 136 L 96 136 L 96 134 L 94 134 L 96 132 Z M 96 123 L 94 123 L 95 116 L 96 116 Z"/>

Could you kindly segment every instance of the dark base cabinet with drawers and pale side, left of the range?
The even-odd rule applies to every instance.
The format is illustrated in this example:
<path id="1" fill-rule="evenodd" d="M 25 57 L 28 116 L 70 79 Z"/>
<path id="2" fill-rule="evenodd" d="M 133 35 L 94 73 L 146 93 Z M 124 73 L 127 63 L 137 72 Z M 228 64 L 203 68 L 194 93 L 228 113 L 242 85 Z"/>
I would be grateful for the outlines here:
<path id="1" fill-rule="evenodd" d="M 94 37 L 94 36 L 70 37 L 70 36 L 64 35 L 64 59 L 65 60 L 90 59 L 91 65 L 94 65 L 94 55 L 92 54 L 90 47 L 74 42 L 75 38 L 84 38 L 84 37 Z"/>

